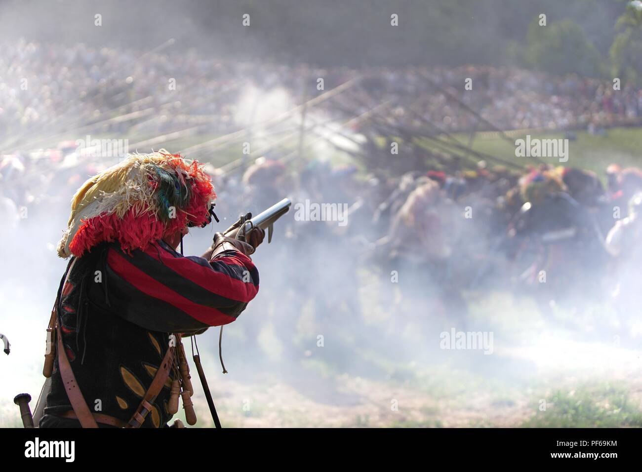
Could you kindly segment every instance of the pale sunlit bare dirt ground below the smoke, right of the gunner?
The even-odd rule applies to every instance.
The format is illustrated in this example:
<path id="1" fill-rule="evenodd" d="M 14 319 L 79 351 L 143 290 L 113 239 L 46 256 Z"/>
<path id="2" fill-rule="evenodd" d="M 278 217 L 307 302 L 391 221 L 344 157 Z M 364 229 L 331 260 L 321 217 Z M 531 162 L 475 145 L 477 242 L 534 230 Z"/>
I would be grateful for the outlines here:
<path id="1" fill-rule="evenodd" d="M 542 340 L 498 349 L 487 356 L 492 361 L 482 358 L 486 370 L 412 367 L 407 380 L 323 376 L 306 369 L 280 374 L 263 369 L 241 380 L 218 372 L 210 376 L 223 424 L 238 427 L 516 427 L 538 413 L 541 401 L 548 402 L 549 415 L 562 414 L 553 407 L 560 392 L 571 397 L 587 392 L 586 398 L 608 407 L 613 386 L 625 392 L 633 410 L 642 411 L 638 351 Z M 211 420 L 198 392 L 195 405 L 207 426 Z"/>

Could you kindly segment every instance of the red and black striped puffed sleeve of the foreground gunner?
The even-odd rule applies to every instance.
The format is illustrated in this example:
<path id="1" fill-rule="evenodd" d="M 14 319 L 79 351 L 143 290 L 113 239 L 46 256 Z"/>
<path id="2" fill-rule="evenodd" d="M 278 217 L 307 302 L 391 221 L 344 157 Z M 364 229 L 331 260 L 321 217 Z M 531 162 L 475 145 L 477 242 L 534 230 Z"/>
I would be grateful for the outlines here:
<path id="1" fill-rule="evenodd" d="M 119 316 L 146 329 L 189 333 L 234 321 L 259 290 L 252 260 L 236 250 L 207 261 L 182 256 L 163 241 L 105 259 L 105 300 Z"/>

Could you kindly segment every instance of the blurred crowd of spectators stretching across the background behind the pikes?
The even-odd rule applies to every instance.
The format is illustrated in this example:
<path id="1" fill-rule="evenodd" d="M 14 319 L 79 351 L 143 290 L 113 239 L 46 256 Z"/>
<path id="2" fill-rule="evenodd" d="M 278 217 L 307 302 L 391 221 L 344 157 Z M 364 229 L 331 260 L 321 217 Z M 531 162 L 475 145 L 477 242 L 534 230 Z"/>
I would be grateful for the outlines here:
<path id="1" fill-rule="evenodd" d="M 642 90 L 577 75 L 550 76 L 513 67 L 467 66 L 322 69 L 306 65 L 217 62 L 194 51 L 134 53 L 84 44 L 58 46 L 17 41 L 0 45 L 0 139 L 28 134 L 64 118 L 68 130 L 88 122 L 105 123 L 108 132 L 162 132 L 205 123 L 207 132 L 225 132 L 238 115 L 238 94 L 252 83 L 269 91 L 281 87 L 297 103 L 360 78 L 349 114 L 386 100 L 401 123 L 428 121 L 444 130 L 588 128 L 636 122 Z M 470 79 L 471 90 L 465 88 Z M 332 103 L 320 105 L 330 116 L 345 114 Z M 486 120 L 463 112 L 476 110 Z M 163 119 L 117 119 L 144 110 L 166 110 Z M 143 113 L 143 117 L 146 115 Z M 354 116 L 354 115 L 352 115 Z M 64 129 L 64 128 L 61 128 Z"/>

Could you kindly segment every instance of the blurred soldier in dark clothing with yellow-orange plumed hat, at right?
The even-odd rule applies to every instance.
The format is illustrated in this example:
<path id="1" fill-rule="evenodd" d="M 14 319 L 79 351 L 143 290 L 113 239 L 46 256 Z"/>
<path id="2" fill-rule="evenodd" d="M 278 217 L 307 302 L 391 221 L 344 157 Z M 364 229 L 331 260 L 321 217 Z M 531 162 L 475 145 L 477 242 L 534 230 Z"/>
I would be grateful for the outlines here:
<path id="1" fill-rule="evenodd" d="M 597 274 L 603 273 L 606 254 L 600 229 L 569 195 L 558 171 L 533 171 L 520 183 L 526 203 L 511 222 L 506 245 L 512 277 L 517 288 L 534 293 L 544 313 L 551 314 L 555 303 L 577 310 L 590 298 L 573 294 L 601 293 Z M 547 283 L 541 283 L 542 274 Z"/>

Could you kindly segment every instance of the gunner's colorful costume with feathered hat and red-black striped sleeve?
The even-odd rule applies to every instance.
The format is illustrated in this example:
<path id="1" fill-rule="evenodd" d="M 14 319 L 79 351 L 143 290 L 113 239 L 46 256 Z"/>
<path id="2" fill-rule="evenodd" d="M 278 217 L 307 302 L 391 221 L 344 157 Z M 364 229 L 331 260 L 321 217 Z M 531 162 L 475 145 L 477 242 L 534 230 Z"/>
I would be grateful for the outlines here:
<path id="1" fill-rule="evenodd" d="M 73 256 L 58 289 L 58 334 L 92 414 L 117 420 L 101 423 L 99 415 L 99 427 L 130 421 L 173 337 L 230 323 L 256 296 L 259 275 L 241 250 L 184 257 L 164 241 L 209 223 L 214 198 L 198 162 L 162 152 L 131 155 L 74 195 L 58 244 L 61 257 Z M 177 372 L 171 369 L 141 426 L 171 418 Z M 79 426 L 60 353 L 40 426 Z"/>

